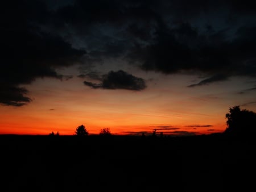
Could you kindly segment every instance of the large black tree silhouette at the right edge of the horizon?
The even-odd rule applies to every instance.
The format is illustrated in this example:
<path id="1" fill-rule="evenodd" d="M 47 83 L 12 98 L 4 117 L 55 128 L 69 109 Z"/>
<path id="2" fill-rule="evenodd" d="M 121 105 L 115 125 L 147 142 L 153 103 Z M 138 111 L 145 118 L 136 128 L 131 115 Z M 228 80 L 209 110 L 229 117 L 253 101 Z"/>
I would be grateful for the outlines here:
<path id="1" fill-rule="evenodd" d="M 240 106 L 229 108 L 226 114 L 227 128 L 224 133 L 228 135 L 251 135 L 256 133 L 256 113 L 246 109 L 241 110 Z"/>

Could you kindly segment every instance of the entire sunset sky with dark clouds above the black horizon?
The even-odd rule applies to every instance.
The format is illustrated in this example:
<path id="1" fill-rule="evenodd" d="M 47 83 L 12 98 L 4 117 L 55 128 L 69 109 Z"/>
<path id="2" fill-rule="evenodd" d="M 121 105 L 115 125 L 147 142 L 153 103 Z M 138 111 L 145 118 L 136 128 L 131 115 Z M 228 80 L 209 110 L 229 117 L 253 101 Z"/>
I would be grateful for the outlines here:
<path id="1" fill-rule="evenodd" d="M 223 132 L 256 111 L 256 2 L 1 2 L 0 134 Z"/>

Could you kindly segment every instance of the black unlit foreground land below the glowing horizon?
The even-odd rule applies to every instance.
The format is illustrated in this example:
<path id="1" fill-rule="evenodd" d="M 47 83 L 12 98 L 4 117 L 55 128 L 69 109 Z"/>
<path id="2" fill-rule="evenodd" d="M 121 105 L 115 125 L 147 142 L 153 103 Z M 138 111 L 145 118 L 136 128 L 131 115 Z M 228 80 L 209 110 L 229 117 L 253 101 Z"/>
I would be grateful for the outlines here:
<path id="1" fill-rule="evenodd" d="M 253 139 L 0 136 L 0 191 L 255 191 Z"/>

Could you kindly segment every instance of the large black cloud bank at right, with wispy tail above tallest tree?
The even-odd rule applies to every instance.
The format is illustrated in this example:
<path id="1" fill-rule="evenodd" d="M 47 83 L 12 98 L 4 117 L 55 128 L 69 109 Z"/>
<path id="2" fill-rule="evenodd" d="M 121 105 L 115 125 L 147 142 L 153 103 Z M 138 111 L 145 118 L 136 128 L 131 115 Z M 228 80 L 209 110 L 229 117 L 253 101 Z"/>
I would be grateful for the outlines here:
<path id="1" fill-rule="evenodd" d="M 188 23 L 174 30 L 164 27 L 159 29 L 154 43 L 138 46 L 131 58 L 140 60 L 143 70 L 166 74 L 203 72 L 212 76 L 197 85 L 223 81 L 236 75 L 256 77 L 256 40 L 251 31 L 254 28 L 240 28 L 237 37 L 230 41 L 225 38 L 227 32 L 199 35 Z"/>

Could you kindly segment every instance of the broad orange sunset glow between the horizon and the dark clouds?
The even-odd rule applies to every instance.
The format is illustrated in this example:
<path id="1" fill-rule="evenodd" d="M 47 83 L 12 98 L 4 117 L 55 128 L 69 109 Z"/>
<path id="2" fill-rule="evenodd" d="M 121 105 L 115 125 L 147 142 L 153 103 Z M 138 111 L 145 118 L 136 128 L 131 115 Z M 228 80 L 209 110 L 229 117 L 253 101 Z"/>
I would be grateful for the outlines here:
<path id="1" fill-rule="evenodd" d="M 153 85 L 139 92 L 94 90 L 75 78 L 65 82 L 63 88 L 58 80 L 48 81 L 36 80 L 28 86 L 33 94 L 30 97 L 35 98 L 28 105 L 0 107 L 0 134 L 48 135 L 53 131 L 73 135 L 81 124 L 89 134 L 108 127 L 114 135 L 152 133 L 160 127 L 171 129 L 158 133 L 200 135 L 226 128 L 226 102 L 214 102 L 215 98 L 208 95 L 192 97 L 198 91 L 192 93 L 171 79 L 176 92 Z"/>

